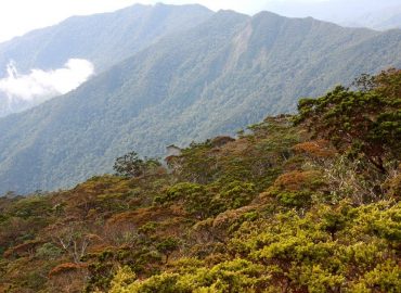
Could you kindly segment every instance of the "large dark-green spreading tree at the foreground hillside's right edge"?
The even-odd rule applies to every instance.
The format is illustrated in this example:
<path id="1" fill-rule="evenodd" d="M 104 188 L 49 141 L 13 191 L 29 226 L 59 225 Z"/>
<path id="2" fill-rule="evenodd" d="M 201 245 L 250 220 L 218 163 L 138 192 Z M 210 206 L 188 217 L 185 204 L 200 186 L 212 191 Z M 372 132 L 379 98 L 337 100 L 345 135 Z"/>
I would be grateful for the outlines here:
<path id="1" fill-rule="evenodd" d="M 401 71 L 364 75 L 355 84 L 358 91 L 338 86 L 322 98 L 300 100 L 295 123 L 387 174 L 401 154 Z"/>

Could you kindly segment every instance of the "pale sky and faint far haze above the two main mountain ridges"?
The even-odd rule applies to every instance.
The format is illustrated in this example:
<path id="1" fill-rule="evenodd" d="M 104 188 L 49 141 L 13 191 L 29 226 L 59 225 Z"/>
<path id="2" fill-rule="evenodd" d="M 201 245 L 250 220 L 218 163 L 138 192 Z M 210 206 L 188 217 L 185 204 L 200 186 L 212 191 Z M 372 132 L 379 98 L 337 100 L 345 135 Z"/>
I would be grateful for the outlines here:
<path id="1" fill-rule="evenodd" d="M 359 24 L 360 18 L 362 16 L 366 18 L 365 15 L 370 13 L 377 12 L 383 18 L 386 18 L 386 13 L 390 16 L 390 10 L 393 8 L 397 8 L 397 12 L 400 9 L 401 13 L 401 3 L 398 0 L 249 0 L 246 3 L 229 0 L 115 0 L 113 2 L 107 0 L 13 0 L 0 3 L 0 42 L 37 28 L 55 25 L 69 16 L 112 12 L 135 3 L 155 4 L 158 2 L 165 4 L 198 3 L 214 11 L 230 9 L 248 15 L 260 11 L 272 11 L 284 16 L 312 16 L 344 25 L 361 26 L 363 23 Z M 22 7 L 24 10 L 21 9 Z M 368 17 L 375 18 L 374 16 Z M 353 18 L 353 22 L 350 21 Z M 374 22 L 375 20 L 371 20 L 373 25 Z"/>

